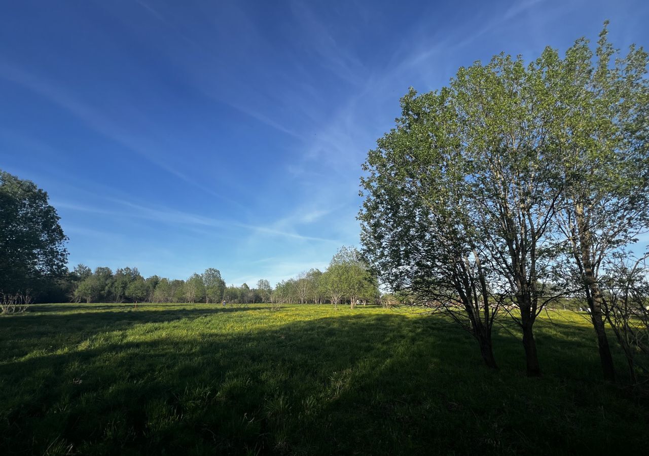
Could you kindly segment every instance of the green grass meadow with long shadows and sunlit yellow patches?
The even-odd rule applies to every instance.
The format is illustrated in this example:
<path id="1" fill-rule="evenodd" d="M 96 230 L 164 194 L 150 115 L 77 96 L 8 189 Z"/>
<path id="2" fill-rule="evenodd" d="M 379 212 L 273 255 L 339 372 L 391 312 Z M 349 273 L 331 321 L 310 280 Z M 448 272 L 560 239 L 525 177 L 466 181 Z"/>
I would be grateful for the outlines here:
<path id="1" fill-rule="evenodd" d="M 532 379 L 506 331 L 491 372 L 442 318 L 379 307 L 32 306 L 0 317 L 0 454 L 644 453 L 646 396 L 568 319 L 539 322 Z"/>

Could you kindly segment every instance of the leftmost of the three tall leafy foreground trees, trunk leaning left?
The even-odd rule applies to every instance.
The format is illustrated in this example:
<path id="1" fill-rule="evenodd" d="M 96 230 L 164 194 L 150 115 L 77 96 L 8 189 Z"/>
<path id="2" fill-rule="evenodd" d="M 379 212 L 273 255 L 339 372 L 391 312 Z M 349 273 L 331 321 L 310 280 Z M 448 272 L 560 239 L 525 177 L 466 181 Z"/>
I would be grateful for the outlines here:
<path id="1" fill-rule="evenodd" d="M 491 332 L 498 300 L 469 216 L 471 162 L 463 155 L 450 90 L 401 101 L 397 128 L 368 154 L 361 180 L 363 254 L 408 304 L 455 320 L 496 367 Z"/>

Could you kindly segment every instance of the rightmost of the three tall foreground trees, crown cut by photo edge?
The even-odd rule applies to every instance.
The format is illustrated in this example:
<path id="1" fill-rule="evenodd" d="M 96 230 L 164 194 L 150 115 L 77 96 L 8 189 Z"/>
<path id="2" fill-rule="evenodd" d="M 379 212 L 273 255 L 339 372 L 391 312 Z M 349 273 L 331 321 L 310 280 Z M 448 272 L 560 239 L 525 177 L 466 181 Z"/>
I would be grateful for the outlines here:
<path id="1" fill-rule="evenodd" d="M 606 26 L 606 24 L 605 24 Z M 567 239 L 574 276 L 590 309 L 604 378 L 615 380 L 604 328 L 600 268 L 635 242 L 649 220 L 648 54 L 631 45 L 624 58 L 607 42 L 606 27 L 595 55 L 578 40 L 557 60 L 554 103 L 561 117 L 552 128 L 565 180 L 557 226 Z"/>

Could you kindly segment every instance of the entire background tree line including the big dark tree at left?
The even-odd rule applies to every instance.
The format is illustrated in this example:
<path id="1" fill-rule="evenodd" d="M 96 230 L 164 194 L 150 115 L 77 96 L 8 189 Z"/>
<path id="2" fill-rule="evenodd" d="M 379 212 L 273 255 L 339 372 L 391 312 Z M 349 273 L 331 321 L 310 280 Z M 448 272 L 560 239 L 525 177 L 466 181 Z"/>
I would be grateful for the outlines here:
<path id="1" fill-rule="evenodd" d="M 66 267 L 67 237 L 58 224 L 47 193 L 32 182 L 0 171 L 0 310 L 21 309 L 30 302 L 261 302 L 349 304 L 378 302 L 376 277 L 356 248 L 343 247 L 321 272 L 311 269 L 271 287 L 226 285 L 215 268 L 185 280 L 144 278 L 136 267 L 113 271 L 77 265 Z"/>

